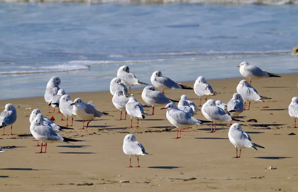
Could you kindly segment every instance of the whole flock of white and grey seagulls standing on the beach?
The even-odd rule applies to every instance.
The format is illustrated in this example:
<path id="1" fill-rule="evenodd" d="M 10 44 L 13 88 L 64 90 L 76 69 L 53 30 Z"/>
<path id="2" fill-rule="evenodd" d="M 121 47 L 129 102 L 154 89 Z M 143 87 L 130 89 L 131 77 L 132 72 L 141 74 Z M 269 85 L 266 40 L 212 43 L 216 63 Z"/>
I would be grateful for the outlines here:
<path id="1" fill-rule="evenodd" d="M 176 136 L 174 138 L 181 138 L 181 130 L 189 128 L 193 125 L 200 125 L 204 123 L 211 123 L 211 132 L 216 131 L 217 123 L 229 122 L 230 128 L 228 131 L 228 138 L 230 142 L 236 147 L 236 158 L 240 157 L 242 148 L 264 148 L 251 141 L 250 136 L 242 131 L 241 125 L 238 123 L 231 124 L 231 121 L 242 122 L 238 120 L 239 115 L 250 109 L 251 101 L 264 102 L 265 99 L 271 99 L 269 97 L 260 96 L 257 90 L 251 86 L 252 79 L 264 78 L 264 77 L 280 77 L 278 74 L 269 73 L 263 71 L 257 66 L 250 65 L 247 62 L 242 62 L 240 65 L 240 73 L 250 80 L 248 83 L 246 80 L 241 80 L 236 87 L 237 92 L 232 95 L 231 100 L 225 104 L 222 101 L 215 101 L 213 99 L 207 100 L 212 95 L 219 94 L 213 90 L 212 86 L 207 83 L 205 77 L 199 76 L 195 83 L 194 88 L 182 85 L 174 80 L 162 76 L 161 71 L 154 71 L 150 77 L 152 85 L 141 82 L 134 73 L 130 72 L 130 68 L 126 65 L 121 66 L 117 71 L 117 77 L 113 78 L 110 82 L 110 93 L 112 94 L 112 103 L 116 109 L 120 111 L 119 120 L 126 120 L 127 114 L 131 118 L 131 125 L 133 127 L 133 119 L 137 119 L 137 126 L 139 127 L 139 119 L 145 119 L 146 116 L 154 115 L 155 107 L 162 107 L 161 110 L 166 110 L 166 119 L 170 124 L 177 128 Z M 83 125 L 81 129 L 88 128 L 88 125 L 95 118 L 102 116 L 110 116 L 108 113 L 97 110 L 92 103 L 83 102 L 81 98 L 71 100 L 70 95 L 67 95 L 65 90 L 60 89 L 61 79 L 57 76 L 52 77 L 46 86 L 45 101 L 49 105 L 48 113 L 50 113 L 50 106 L 53 107 L 53 115 L 50 119 L 44 117 L 39 109 L 34 109 L 30 115 L 30 132 L 33 137 L 41 142 L 37 146 L 41 146 L 41 150 L 38 153 L 45 153 L 47 143 L 53 142 L 76 142 L 78 140 L 62 137 L 59 132 L 63 131 L 65 127 L 55 124 L 54 111 L 55 108 L 59 108 L 62 119 L 66 117 L 66 127 L 73 126 L 74 117 L 78 117 L 82 120 Z M 144 102 L 152 106 L 151 114 L 145 113 L 144 106 L 139 103 L 136 98 L 131 94 L 131 87 L 134 85 L 148 85 L 143 89 L 142 99 Z M 129 87 L 129 89 L 127 88 Z M 205 99 L 205 104 L 201 110 L 190 101 L 186 95 L 182 95 L 180 100 L 173 100 L 164 95 L 164 90 L 169 89 L 193 89 L 195 94 L 199 96 L 201 107 L 201 99 Z M 244 101 L 244 102 L 243 102 Z M 246 102 L 249 102 L 248 108 L 245 109 Z M 176 106 L 177 105 L 177 106 Z M 196 113 L 202 112 L 206 120 L 199 120 L 194 117 Z M 122 119 L 122 113 L 125 112 L 125 118 Z M 298 97 L 294 97 L 289 106 L 289 114 L 292 118 L 298 118 Z M 12 134 L 12 124 L 16 121 L 16 109 L 12 104 L 6 104 L 5 110 L 0 114 L 0 128 L 4 128 L 11 125 L 10 134 Z M 72 124 L 68 124 L 69 118 L 72 118 Z M 84 126 L 87 122 L 86 127 Z M 42 147 L 45 146 L 45 151 L 42 151 Z M 238 156 L 238 148 L 240 153 Z M 136 137 L 133 134 L 127 134 L 123 142 L 123 151 L 130 156 L 138 158 L 141 155 L 150 155 L 145 151 L 144 146 L 136 141 Z"/>

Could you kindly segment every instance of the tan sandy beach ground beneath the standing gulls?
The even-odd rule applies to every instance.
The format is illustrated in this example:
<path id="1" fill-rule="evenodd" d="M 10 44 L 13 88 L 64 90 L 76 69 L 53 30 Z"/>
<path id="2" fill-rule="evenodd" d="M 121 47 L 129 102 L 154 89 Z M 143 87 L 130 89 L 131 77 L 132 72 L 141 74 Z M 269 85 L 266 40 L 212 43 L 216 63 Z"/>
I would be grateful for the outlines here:
<path id="1" fill-rule="evenodd" d="M 13 125 L 15 135 L 0 136 L 0 146 L 16 146 L 0 153 L 1 192 L 181 192 L 181 191 L 298 191 L 298 129 L 290 128 L 294 119 L 288 114 L 292 97 L 298 96 L 298 74 L 284 74 L 281 78 L 254 80 L 252 85 L 260 95 L 272 97 L 266 103 L 252 102 L 250 111 L 244 111 L 244 121 L 256 119 L 257 123 L 242 123 L 243 130 L 252 140 L 265 149 L 243 149 L 241 158 L 234 159 L 235 148 L 227 138 L 229 126 L 218 126 L 209 133 L 210 125 L 201 125 L 182 131 L 181 139 L 171 139 L 176 129 L 166 120 L 165 111 L 155 109 L 155 115 L 140 120 L 140 128 L 127 128 L 130 119 L 114 121 L 119 112 L 112 107 L 109 92 L 70 94 L 84 101 L 92 100 L 97 109 L 114 115 L 103 117 L 81 130 L 81 122 L 74 122 L 74 130 L 66 130 L 63 136 L 81 139 L 74 145 L 53 143 L 47 153 L 35 154 L 33 137 L 19 137 L 30 133 L 29 115 L 39 108 L 44 115 L 47 104 L 43 97 L 0 101 L 1 111 L 6 103 L 17 108 L 18 119 Z M 229 101 L 242 78 L 208 81 L 215 91 L 214 100 Z M 193 86 L 194 82 L 185 83 Z M 64 87 L 62 82 L 61 87 Z M 139 102 L 142 89 L 132 89 Z M 171 99 L 186 94 L 198 104 L 193 90 L 167 90 Z M 261 109 L 262 106 L 269 108 Z M 28 109 L 30 108 L 30 109 Z M 145 108 L 149 110 L 151 108 Z M 60 114 L 55 114 L 58 125 Z M 201 113 L 196 118 L 206 120 Z M 75 120 L 79 120 L 75 118 Z M 134 126 L 136 121 L 134 120 Z M 259 124 L 259 126 L 256 126 Z M 266 124 L 266 126 L 264 126 Z M 165 129 L 167 128 L 167 129 Z M 2 131 L 2 129 L 0 129 Z M 5 133 L 9 133 L 9 128 Z M 129 157 L 122 151 L 123 138 L 134 133 L 152 156 L 140 158 L 141 168 L 127 168 Z M 137 165 L 132 158 L 133 166 Z M 267 168 L 272 166 L 272 170 Z M 192 178 L 192 179 L 191 179 Z M 189 180 L 190 179 L 190 180 Z M 129 180 L 130 183 L 119 183 Z M 82 185 L 82 186 L 81 186 Z M 88 186 L 89 185 L 89 186 Z"/>

